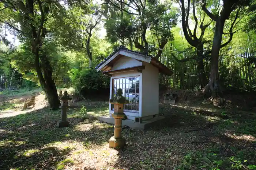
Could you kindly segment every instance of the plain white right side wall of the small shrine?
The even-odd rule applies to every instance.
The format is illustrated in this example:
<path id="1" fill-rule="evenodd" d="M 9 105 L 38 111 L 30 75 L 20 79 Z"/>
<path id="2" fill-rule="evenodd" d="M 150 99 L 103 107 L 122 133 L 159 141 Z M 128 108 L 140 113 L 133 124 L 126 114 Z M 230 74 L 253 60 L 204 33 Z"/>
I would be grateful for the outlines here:
<path id="1" fill-rule="evenodd" d="M 143 62 L 142 70 L 142 117 L 159 113 L 158 68 Z"/>

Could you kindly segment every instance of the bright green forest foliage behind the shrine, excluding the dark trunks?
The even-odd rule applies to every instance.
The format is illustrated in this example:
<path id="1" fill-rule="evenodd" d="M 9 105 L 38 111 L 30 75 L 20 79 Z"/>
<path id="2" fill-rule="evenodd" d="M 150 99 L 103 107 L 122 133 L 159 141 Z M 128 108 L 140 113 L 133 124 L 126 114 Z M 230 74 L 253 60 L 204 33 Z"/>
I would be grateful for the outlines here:
<path id="1" fill-rule="evenodd" d="M 249 1 L 251 0 L 241 2 Z M 45 14 L 43 27 L 46 29 L 46 36 L 44 38 L 40 36 L 42 42 L 38 46 L 40 47 L 38 62 L 41 64 L 41 68 L 45 67 L 42 57 L 42 54 L 45 54 L 53 69 L 52 79 L 57 86 L 74 86 L 77 92 L 83 91 L 84 94 L 108 87 L 107 85 L 95 85 L 98 82 L 108 82 L 105 81 L 105 76 L 87 71 L 89 67 L 86 50 L 88 37 L 91 36 L 89 52 L 92 53 L 93 68 L 120 44 L 136 50 L 134 47 L 136 37 L 139 38 L 139 43 L 145 47 L 143 30 L 146 30 L 148 52 L 156 55 L 158 50 L 162 50 L 159 60 L 174 72 L 173 76 L 168 78 L 160 75 L 160 83 L 173 88 L 201 89 L 197 85 L 200 84 L 200 80 L 198 79 L 196 60 L 181 63 L 174 60 L 172 56 L 173 53 L 178 59 L 184 59 L 196 55 L 196 48 L 189 45 L 181 29 L 178 20 L 181 11 L 178 9 L 177 3 L 169 0 L 147 0 L 138 3 L 133 0 L 106 0 L 103 5 L 99 6 L 91 1 L 76 0 L 65 1 L 65 5 L 60 1 L 33 2 L 34 12 L 31 16 L 27 15 L 27 12 L 16 1 L 12 1 L 11 5 L 0 3 L 0 88 L 9 87 L 14 69 L 16 71 L 12 79 L 12 87 L 24 87 L 30 90 L 40 86 L 38 73 L 34 67 L 34 54 L 31 52 L 31 44 L 35 38 L 31 36 L 30 25 L 36 28 L 36 32 L 38 31 L 42 18 L 38 2 L 42 2 Z M 203 22 L 205 25 L 211 19 L 202 10 L 202 4 L 199 1 L 195 1 L 195 4 L 195 15 L 198 20 L 196 37 L 199 38 L 202 31 L 201 23 Z M 248 7 L 252 15 L 246 15 L 247 7 L 239 5 L 242 6 L 242 15 L 238 16 L 233 30 L 239 31 L 234 33 L 229 45 L 220 51 L 219 79 L 225 86 L 256 91 L 256 62 L 253 62 L 256 58 L 256 33 L 255 22 L 253 22 L 255 21 L 253 13 L 255 1 L 251 7 Z M 218 15 L 222 5 L 219 5 L 218 0 L 207 0 L 206 7 L 214 15 Z M 225 22 L 222 44 L 229 40 L 228 32 L 230 32 L 229 28 L 235 15 L 236 11 L 232 12 L 230 19 Z M 195 23 L 191 9 L 189 28 L 192 33 Z M 204 54 L 211 50 L 215 24 L 213 21 L 207 27 L 202 38 Z M 102 36 L 105 35 L 105 29 L 102 26 L 106 29 L 106 39 Z M 10 34 L 19 40 L 17 47 L 14 47 L 14 44 L 8 39 Z M 40 35 L 42 35 L 42 31 Z M 163 40 L 168 42 L 163 49 L 159 49 Z M 204 56 L 203 63 L 208 80 L 210 55 Z M 42 73 L 42 75 L 45 74 Z M 89 80 L 86 75 L 92 75 L 95 80 Z M 86 78 L 85 80 L 81 78 L 83 76 Z"/>

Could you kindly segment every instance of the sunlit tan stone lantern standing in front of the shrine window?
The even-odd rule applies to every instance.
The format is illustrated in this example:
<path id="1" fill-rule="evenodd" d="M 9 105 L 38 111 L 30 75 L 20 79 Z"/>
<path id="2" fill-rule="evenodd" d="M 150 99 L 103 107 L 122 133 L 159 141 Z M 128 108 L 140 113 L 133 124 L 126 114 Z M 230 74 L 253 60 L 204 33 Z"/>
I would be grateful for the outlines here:
<path id="1" fill-rule="evenodd" d="M 109 147 L 112 148 L 123 148 L 125 146 L 125 139 L 122 138 L 122 119 L 125 118 L 124 104 L 127 104 L 128 101 L 122 94 L 122 89 L 118 88 L 117 96 L 110 99 L 110 103 L 114 104 L 114 113 L 112 114 L 112 117 L 115 121 L 114 136 L 109 139 Z"/>

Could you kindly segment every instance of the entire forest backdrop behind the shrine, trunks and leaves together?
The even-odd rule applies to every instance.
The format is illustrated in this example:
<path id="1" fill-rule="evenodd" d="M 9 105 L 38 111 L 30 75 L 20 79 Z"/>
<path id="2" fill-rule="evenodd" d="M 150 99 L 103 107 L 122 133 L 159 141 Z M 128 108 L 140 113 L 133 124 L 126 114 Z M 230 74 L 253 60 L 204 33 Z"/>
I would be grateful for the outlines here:
<path id="1" fill-rule="evenodd" d="M 256 91 L 255 0 L 1 0 L 0 89 L 109 87 L 94 67 L 124 45 L 174 72 L 166 87 Z M 90 79 L 92 78 L 92 79 Z M 95 85 L 103 83 L 102 85 Z"/>

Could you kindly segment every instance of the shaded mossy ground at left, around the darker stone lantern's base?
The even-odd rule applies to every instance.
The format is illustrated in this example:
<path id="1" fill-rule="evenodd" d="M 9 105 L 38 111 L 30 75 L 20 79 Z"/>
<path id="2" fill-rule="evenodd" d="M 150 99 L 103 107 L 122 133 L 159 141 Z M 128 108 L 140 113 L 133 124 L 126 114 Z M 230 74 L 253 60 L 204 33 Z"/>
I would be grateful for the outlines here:
<path id="1" fill-rule="evenodd" d="M 81 122 L 80 118 L 69 118 L 70 126 L 57 128 L 60 110 L 47 108 L 10 118 L 0 118 L 0 162 L 1 169 L 50 169 L 56 167 L 70 154 L 70 147 L 47 146 L 54 142 L 78 141 L 84 145 L 101 145 L 108 141 L 113 126 L 97 127 L 95 120 Z M 88 129 L 77 129 L 79 123 L 90 124 Z M 92 125 L 91 125 L 92 124 Z M 104 132 L 97 133 L 98 131 Z"/>

